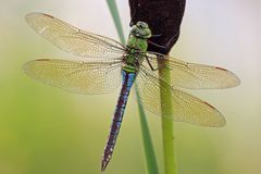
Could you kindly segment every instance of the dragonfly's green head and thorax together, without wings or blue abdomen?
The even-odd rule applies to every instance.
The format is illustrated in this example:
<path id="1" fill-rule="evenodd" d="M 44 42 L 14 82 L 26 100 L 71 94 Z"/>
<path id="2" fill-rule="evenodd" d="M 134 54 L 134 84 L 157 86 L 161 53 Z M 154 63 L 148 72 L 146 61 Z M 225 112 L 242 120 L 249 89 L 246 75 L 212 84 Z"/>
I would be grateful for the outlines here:
<path id="1" fill-rule="evenodd" d="M 151 36 L 148 24 L 138 22 L 132 27 L 128 40 L 127 52 L 125 57 L 126 65 L 123 70 L 126 72 L 137 72 L 148 49 L 148 38 Z"/>

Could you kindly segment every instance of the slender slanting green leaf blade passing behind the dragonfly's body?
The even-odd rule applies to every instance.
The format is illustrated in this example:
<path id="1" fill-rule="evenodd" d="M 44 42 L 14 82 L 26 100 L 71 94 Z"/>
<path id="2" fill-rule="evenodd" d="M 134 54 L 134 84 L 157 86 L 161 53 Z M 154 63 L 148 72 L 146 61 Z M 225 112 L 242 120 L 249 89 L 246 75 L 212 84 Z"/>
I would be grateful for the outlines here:
<path id="1" fill-rule="evenodd" d="M 112 14 L 115 27 L 117 29 L 119 37 L 122 41 L 122 44 L 125 44 L 125 38 L 122 29 L 122 24 L 120 20 L 120 15 L 117 12 L 116 3 L 114 0 L 107 0 L 108 7 L 110 9 L 110 12 Z M 140 103 L 140 97 L 139 91 L 137 89 L 137 86 L 135 84 L 135 91 L 137 96 L 138 102 L 138 110 L 139 110 L 139 119 L 140 119 L 140 125 L 141 125 L 141 134 L 142 134 L 142 141 L 144 141 L 144 149 L 145 149 L 145 156 L 146 156 L 146 163 L 147 163 L 147 171 L 149 174 L 158 174 L 158 165 L 156 160 L 156 153 L 152 146 L 152 140 L 149 132 L 149 126 L 146 120 L 146 114 L 144 111 L 144 108 Z"/>

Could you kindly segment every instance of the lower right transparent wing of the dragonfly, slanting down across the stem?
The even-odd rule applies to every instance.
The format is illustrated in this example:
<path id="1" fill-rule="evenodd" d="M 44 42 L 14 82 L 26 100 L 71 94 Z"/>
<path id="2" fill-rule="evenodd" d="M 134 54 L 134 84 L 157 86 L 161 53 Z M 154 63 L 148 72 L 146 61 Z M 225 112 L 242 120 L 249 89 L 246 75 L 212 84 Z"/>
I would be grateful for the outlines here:
<path id="1" fill-rule="evenodd" d="M 142 66 L 136 83 L 140 95 L 139 102 L 150 112 L 162 114 L 174 121 L 201 126 L 217 127 L 225 125 L 225 119 L 215 108 L 189 94 L 172 88 Z M 171 98 L 166 97 L 161 100 L 161 95 L 171 96 Z M 164 107 L 164 113 L 161 113 L 161 107 L 163 105 L 171 107 Z"/>

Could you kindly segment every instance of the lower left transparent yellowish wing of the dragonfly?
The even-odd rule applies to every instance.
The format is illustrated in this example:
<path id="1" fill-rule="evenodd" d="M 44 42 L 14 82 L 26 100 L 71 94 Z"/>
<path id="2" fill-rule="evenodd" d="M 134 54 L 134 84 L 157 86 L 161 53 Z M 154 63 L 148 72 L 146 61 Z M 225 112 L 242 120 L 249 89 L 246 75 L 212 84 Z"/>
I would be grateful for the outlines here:
<path id="1" fill-rule="evenodd" d="M 77 94 L 107 94 L 121 82 L 122 62 L 84 62 L 40 59 L 24 65 L 24 72 L 46 84 Z"/>

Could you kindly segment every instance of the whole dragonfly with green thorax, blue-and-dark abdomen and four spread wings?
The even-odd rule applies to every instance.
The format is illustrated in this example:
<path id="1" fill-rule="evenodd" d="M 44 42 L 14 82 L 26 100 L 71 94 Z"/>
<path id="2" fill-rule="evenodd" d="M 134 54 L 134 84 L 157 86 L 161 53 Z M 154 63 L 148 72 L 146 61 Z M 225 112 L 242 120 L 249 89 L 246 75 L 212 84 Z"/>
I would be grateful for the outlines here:
<path id="1" fill-rule="evenodd" d="M 121 85 L 110 135 L 101 160 L 101 171 L 108 166 L 115 147 L 127 99 L 134 83 L 139 100 L 148 111 L 172 121 L 219 127 L 225 125 L 220 111 L 181 88 L 221 89 L 239 85 L 232 72 L 169 55 L 147 51 L 152 37 L 147 23 L 132 26 L 126 46 L 114 39 L 82 30 L 49 14 L 33 12 L 25 16 L 28 25 L 61 50 L 79 60 L 38 59 L 26 62 L 25 74 L 45 84 L 76 94 L 108 94 Z M 158 63 L 159 60 L 167 63 Z M 160 76 L 167 70 L 171 80 Z M 161 96 L 169 96 L 161 100 Z M 163 105 L 171 104 L 161 113 Z"/>

